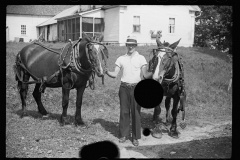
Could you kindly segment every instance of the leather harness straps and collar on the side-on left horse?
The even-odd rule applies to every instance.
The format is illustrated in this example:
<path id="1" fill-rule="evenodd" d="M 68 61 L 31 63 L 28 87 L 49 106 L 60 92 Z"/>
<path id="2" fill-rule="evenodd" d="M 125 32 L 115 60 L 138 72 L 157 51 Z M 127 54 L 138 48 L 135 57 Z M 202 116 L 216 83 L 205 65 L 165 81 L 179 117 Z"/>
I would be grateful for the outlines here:
<path id="1" fill-rule="evenodd" d="M 89 86 L 91 89 L 94 89 L 95 86 L 94 86 L 94 78 L 95 78 L 95 68 L 94 68 L 94 65 L 92 64 L 91 60 L 90 60 L 90 57 L 89 57 L 89 53 L 88 53 L 88 46 L 91 45 L 91 44 L 100 44 L 100 45 L 103 45 L 99 42 L 89 42 L 86 44 L 85 46 L 85 50 L 86 50 L 86 55 L 87 55 L 87 59 L 88 59 L 88 62 L 90 63 L 90 68 L 89 69 L 83 69 L 81 67 L 81 63 L 77 60 L 77 58 L 79 57 L 79 45 L 80 45 L 80 41 L 82 39 L 80 38 L 76 43 L 73 44 L 73 42 L 70 40 L 69 43 L 67 43 L 61 50 L 61 53 L 60 52 L 57 52 L 51 48 L 48 48 L 38 42 L 34 42 L 34 44 L 37 44 L 37 45 L 40 45 L 41 47 L 47 49 L 47 50 L 50 50 L 51 52 L 54 52 L 54 53 L 57 53 L 59 54 L 59 59 L 58 59 L 58 65 L 59 65 L 59 70 L 56 71 L 53 75 L 49 76 L 48 78 L 46 76 L 44 76 L 43 78 L 38 78 L 36 76 L 34 76 L 32 73 L 29 72 L 29 70 L 25 67 L 25 65 L 22 63 L 21 61 L 21 57 L 20 57 L 20 52 L 18 53 L 17 57 L 16 57 L 16 65 L 13 66 L 13 69 L 14 69 L 14 72 L 15 74 L 17 75 L 18 79 L 22 82 L 22 83 L 25 83 L 25 84 L 33 84 L 33 83 L 41 83 L 40 85 L 40 88 L 39 88 L 39 92 L 44 92 L 46 86 L 45 86 L 45 83 L 49 83 L 54 77 L 57 77 L 59 75 L 59 73 L 61 73 L 62 75 L 62 86 L 64 87 L 63 85 L 63 71 L 67 71 L 68 73 L 70 73 L 71 75 L 71 81 L 72 81 L 72 85 L 71 87 L 69 88 L 66 88 L 66 89 L 71 89 L 73 86 L 74 86 L 74 81 L 73 81 L 73 78 L 72 78 L 72 74 L 71 72 L 75 72 L 77 74 L 88 74 L 88 77 L 90 78 L 90 76 L 92 76 L 92 79 L 90 80 L 89 79 Z M 103 45 L 104 46 L 104 45 Z M 106 48 L 106 46 L 104 46 Z M 104 54 L 103 50 L 100 49 L 101 51 L 101 54 L 102 56 L 107 56 L 106 54 Z M 65 53 L 65 55 L 63 56 L 62 58 L 62 55 Z M 69 63 L 66 65 L 66 66 L 63 66 L 64 64 L 64 60 L 65 58 L 67 57 L 67 55 L 70 53 L 70 61 Z M 108 57 L 108 56 L 107 56 Z M 104 57 L 104 61 L 105 61 L 105 67 L 106 66 L 106 59 Z M 18 66 L 21 66 L 23 69 L 25 69 L 35 80 L 34 81 L 28 81 L 28 82 L 24 82 L 23 81 L 23 77 L 19 75 L 19 72 L 18 72 Z M 93 72 L 93 73 L 92 73 Z M 103 84 L 104 84 L 104 81 L 103 81 Z M 88 86 L 86 86 L 88 87 Z"/>

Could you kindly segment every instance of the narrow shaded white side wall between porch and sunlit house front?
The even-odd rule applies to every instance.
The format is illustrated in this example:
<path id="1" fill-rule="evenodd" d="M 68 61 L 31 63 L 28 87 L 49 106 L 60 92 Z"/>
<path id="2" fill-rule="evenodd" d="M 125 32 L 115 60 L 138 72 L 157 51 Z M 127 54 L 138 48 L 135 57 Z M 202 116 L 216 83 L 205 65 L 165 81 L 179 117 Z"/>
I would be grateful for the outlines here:
<path id="1" fill-rule="evenodd" d="M 107 9 L 104 13 L 104 42 L 119 42 L 119 7 Z"/>

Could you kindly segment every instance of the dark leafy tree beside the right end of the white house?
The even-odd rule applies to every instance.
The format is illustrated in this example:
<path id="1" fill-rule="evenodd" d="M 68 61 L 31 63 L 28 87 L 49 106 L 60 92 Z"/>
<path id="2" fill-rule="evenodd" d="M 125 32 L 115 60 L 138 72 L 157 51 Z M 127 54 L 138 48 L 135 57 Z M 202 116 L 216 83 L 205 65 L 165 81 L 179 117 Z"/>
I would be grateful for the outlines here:
<path id="1" fill-rule="evenodd" d="M 232 50 L 232 7 L 199 6 L 201 16 L 196 18 L 195 46 Z M 230 53 L 231 54 L 231 53 Z"/>

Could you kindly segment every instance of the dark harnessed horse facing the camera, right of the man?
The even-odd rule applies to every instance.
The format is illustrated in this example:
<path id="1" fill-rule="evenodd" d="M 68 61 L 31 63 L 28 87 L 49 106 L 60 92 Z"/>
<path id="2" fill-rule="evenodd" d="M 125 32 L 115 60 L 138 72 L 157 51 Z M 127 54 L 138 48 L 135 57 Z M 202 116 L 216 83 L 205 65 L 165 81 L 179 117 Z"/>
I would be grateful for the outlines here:
<path id="1" fill-rule="evenodd" d="M 180 41 L 180 40 L 179 40 Z M 177 131 L 177 114 L 179 110 L 182 111 L 182 122 L 181 127 L 185 128 L 185 106 L 186 106 L 186 91 L 184 87 L 184 72 L 182 63 L 178 54 L 175 52 L 179 41 L 169 44 L 168 42 L 162 44 L 159 39 L 157 39 L 158 49 L 153 50 L 153 56 L 149 62 L 149 71 L 153 72 L 153 79 L 158 81 L 164 90 L 165 107 L 166 107 L 166 123 L 168 124 L 170 120 L 170 101 L 173 98 L 173 108 L 172 114 L 172 124 L 170 128 L 170 136 L 178 138 Z M 178 108 L 178 103 L 180 101 L 180 107 Z M 158 116 L 161 113 L 160 105 L 154 108 L 153 121 L 157 121 Z M 152 131 L 152 135 L 155 138 L 161 138 L 162 133 L 159 125 L 156 125 Z"/>

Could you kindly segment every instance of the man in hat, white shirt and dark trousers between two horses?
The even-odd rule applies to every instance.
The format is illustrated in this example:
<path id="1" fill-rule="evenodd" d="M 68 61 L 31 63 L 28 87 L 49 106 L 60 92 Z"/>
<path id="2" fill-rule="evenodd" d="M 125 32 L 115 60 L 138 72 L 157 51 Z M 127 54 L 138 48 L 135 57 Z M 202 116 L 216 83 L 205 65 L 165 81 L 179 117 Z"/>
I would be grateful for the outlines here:
<path id="1" fill-rule="evenodd" d="M 115 64 L 115 70 L 110 72 L 106 70 L 106 74 L 111 78 L 116 78 L 122 69 L 121 85 L 119 88 L 120 98 L 120 121 L 119 142 L 126 141 L 130 132 L 130 110 L 132 118 L 132 143 L 138 146 L 138 139 L 141 138 L 141 119 L 139 106 L 134 98 L 134 89 L 139 81 L 141 74 L 145 79 L 152 78 L 152 72 L 147 71 L 147 61 L 144 56 L 140 55 L 135 49 L 137 40 L 135 37 L 128 36 L 126 41 L 127 53 L 118 57 Z"/>

